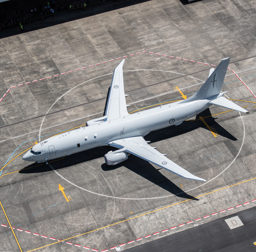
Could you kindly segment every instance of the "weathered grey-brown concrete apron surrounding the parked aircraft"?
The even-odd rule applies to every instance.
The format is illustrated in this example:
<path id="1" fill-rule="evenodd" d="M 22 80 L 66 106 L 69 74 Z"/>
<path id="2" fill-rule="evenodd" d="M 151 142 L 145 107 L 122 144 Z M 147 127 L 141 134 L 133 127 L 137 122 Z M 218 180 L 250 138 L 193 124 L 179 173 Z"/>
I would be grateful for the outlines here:
<path id="1" fill-rule="evenodd" d="M 246 0 L 151 0 L 0 39 L 0 250 L 125 250 L 255 206 L 255 12 Z M 226 57 L 222 91 L 249 114 L 211 106 L 145 137 L 207 182 L 132 155 L 106 166 L 107 146 L 21 158 L 101 117 L 122 58 L 132 113 L 191 96 Z"/>

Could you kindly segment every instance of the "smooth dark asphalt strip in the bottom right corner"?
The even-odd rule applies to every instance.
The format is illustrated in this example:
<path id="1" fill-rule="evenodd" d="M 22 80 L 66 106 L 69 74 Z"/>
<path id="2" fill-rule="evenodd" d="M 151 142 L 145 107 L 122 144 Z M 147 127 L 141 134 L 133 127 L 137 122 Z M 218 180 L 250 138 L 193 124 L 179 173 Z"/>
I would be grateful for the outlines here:
<path id="1" fill-rule="evenodd" d="M 230 229 L 224 221 L 227 217 L 223 217 L 199 227 L 130 248 L 127 252 L 255 251 L 256 207 L 246 209 L 229 217 L 232 218 L 233 216 L 238 216 L 244 225 Z"/>

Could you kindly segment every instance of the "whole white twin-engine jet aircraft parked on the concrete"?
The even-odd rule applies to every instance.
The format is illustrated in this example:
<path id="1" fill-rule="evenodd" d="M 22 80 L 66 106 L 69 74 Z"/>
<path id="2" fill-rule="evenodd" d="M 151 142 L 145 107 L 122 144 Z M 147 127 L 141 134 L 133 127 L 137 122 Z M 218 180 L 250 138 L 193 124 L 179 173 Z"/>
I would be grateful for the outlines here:
<path id="1" fill-rule="evenodd" d="M 133 114 L 128 114 L 126 109 L 125 97 L 127 95 L 125 95 L 123 84 L 123 59 L 114 69 L 104 116 L 86 122 L 86 127 L 45 139 L 33 146 L 23 156 L 23 159 L 48 164 L 52 159 L 108 145 L 119 150 L 110 151 L 104 156 L 107 165 L 119 164 L 128 158 L 128 154 L 133 154 L 181 177 L 205 181 L 175 164 L 165 157 L 165 154 L 159 153 L 143 137 L 151 131 L 179 125 L 206 110 L 212 104 L 248 112 L 224 98 L 225 93 L 220 93 L 229 59 L 222 59 L 215 70 L 211 68 L 206 82 L 190 98 Z"/>

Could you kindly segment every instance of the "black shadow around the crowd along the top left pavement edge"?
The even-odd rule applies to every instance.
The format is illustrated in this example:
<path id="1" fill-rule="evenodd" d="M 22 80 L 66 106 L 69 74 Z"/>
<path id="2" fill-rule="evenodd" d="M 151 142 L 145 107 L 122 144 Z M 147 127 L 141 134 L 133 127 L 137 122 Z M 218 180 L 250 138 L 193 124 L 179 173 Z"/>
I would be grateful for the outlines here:
<path id="1" fill-rule="evenodd" d="M 125 8 L 127 6 L 132 6 L 134 4 L 140 4 L 147 2 L 149 0 L 80 0 L 82 3 L 87 3 L 85 11 L 83 11 L 82 8 L 74 8 L 71 11 L 65 10 L 61 12 L 56 12 L 57 8 L 55 8 L 54 15 L 48 15 L 48 16 L 42 16 L 37 15 L 37 16 L 32 16 L 31 19 L 29 19 L 27 22 L 22 22 L 23 25 L 23 31 L 22 33 L 25 32 L 31 32 L 35 31 L 38 29 L 46 28 L 46 27 L 51 27 L 53 25 L 57 24 L 64 24 L 66 22 L 70 22 L 73 20 L 79 20 L 84 17 L 88 16 L 94 16 L 98 15 L 101 13 L 105 12 L 110 12 L 113 10 L 118 10 L 120 8 Z M 46 3 L 47 1 L 45 1 Z M 63 1 L 58 1 L 56 0 L 56 6 L 58 4 L 74 4 L 78 1 L 75 0 L 63 0 Z M 89 2 L 89 4 L 88 4 Z M 45 5 L 44 3 L 44 5 Z M 12 16 L 10 15 L 10 9 L 14 10 L 14 16 L 16 16 L 18 19 L 20 15 L 23 15 L 24 12 L 29 12 L 30 8 L 37 7 L 37 12 L 40 11 L 40 2 L 35 2 L 33 0 L 11 0 L 8 2 L 0 3 L 0 14 L 6 13 L 7 16 Z M 15 20 L 16 20 L 15 17 Z M 3 26 L 0 29 L 0 38 L 6 38 L 9 36 L 17 35 L 21 33 L 21 29 L 19 28 L 19 22 L 16 22 L 11 25 Z M 1 22 L 0 22 L 0 27 L 1 27 Z"/>

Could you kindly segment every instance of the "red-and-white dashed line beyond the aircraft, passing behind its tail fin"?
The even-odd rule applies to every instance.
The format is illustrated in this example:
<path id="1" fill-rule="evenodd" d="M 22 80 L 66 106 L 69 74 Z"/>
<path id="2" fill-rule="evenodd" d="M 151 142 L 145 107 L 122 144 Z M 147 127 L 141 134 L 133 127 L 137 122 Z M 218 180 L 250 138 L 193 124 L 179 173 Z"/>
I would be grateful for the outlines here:
<path id="1" fill-rule="evenodd" d="M 146 51 L 142 51 L 142 52 L 146 52 Z M 138 54 L 141 54 L 142 53 L 141 51 L 140 52 L 137 52 L 136 55 Z M 148 51 L 148 53 L 150 54 L 154 54 L 154 55 L 159 55 L 159 56 L 164 56 L 164 57 L 168 57 L 166 54 L 160 54 L 160 53 L 154 53 L 154 52 L 151 52 L 151 51 Z M 118 59 L 124 59 L 126 57 L 129 57 L 129 56 L 133 56 L 135 55 L 135 53 L 133 54 L 130 54 L 130 55 L 125 55 L 125 56 L 122 56 L 122 57 L 119 57 L 119 58 L 116 58 L 116 59 L 110 59 L 108 61 L 104 61 L 102 63 L 96 63 L 96 64 L 93 64 L 93 65 L 89 65 L 88 67 L 93 67 L 93 66 L 97 66 L 97 65 L 100 65 L 100 64 L 103 64 L 103 63 L 107 63 L 107 62 L 112 62 L 114 60 L 118 60 Z M 209 65 L 209 66 L 212 66 L 212 67 L 216 67 L 216 65 L 213 65 L 213 64 L 209 64 L 209 63 L 202 63 L 202 62 L 199 62 L 199 61 L 195 61 L 195 60 L 191 60 L 191 59 L 184 59 L 184 58 L 180 58 L 180 57 L 175 57 L 175 56 L 169 56 L 169 58 L 172 58 L 172 59 L 180 59 L 180 60 L 185 60 L 185 61 L 189 61 L 189 62 L 192 62 L 192 63 L 199 63 L 199 64 L 204 64 L 204 65 Z M 49 79 L 49 78 L 52 78 L 52 77 L 57 77 L 59 75 L 64 75 L 64 74 L 67 74 L 67 73 L 71 73 L 71 72 L 74 72 L 74 71 L 78 71 L 80 69 L 85 69 L 87 67 L 81 67 L 81 68 L 77 68 L 75 70 L 70 70 L 70 71 L 67 71 L 67 72 L 63 72 L 61 74 L 57 74 L 57 75 L 53 75 L 53 76 L 48 76 L 46 78 L 41 78 L 39 80 L 45 80 L 45 79 Z M 236 75 L 236 77 L 244 84 L 244 86 L 248 89 L 248 91 L 254 96 L 254 98 L 256 98 L 256 95 L 253 94 L 253 92 L 250 90 L 250 88 L 243 82 L 243 80 L 236 74 L 236 72 L 234 70 L 232 70 L 231 68 L 228 67 L 228 70 L 231 70 L 233 74 Z M 37 82 L 38 80 L 33 80 L 32 82 L 27 82 L 25 84 L 29 84 L 29 83 L 35 83 Z M 15 87 L 19 87 L 19 86 L 23 86 L 24 84 L 19 84 L 19 85 L 16 85 L 16 86 L 12 86 L 10 87 L 6 93 L 3 95 L 2 98 L 0 98 L 0 102 L 3 101 L 4 97 L 8 94 L 8 92 L 12 89 L 12 88 L 15 88 Z"/>

